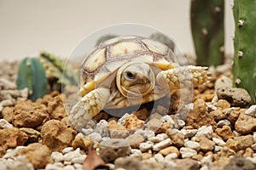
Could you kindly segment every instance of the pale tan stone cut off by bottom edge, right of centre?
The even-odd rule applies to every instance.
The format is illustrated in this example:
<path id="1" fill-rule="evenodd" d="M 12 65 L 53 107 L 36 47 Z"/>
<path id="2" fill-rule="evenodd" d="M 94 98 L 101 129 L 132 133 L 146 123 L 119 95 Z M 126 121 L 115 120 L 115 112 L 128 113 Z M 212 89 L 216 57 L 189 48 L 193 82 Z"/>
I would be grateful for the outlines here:
<path id="1" fill-rule="evenodd" d="M 199 170 L 200 164 L 192 159 L 177 159 L 174 161 L 177 164 L 176 170 Z"/>

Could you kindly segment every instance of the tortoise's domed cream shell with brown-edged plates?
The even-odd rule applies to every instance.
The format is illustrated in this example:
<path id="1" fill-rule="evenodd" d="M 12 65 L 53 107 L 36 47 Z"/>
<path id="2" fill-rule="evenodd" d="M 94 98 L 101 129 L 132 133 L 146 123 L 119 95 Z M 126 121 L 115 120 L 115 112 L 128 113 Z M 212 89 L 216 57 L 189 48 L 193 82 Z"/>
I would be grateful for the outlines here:
<path id="1" fill-rule="evenodd" d="M 143 61 L 155 65 L 160 70 L 178 65 L 172 49 L 161 42 L 146 37 L 114 37 L 99 44 L 85 57 L 79 71 L 82 96 L 96 88 L 97 83 L 108 79 L 127 61 Z"/>

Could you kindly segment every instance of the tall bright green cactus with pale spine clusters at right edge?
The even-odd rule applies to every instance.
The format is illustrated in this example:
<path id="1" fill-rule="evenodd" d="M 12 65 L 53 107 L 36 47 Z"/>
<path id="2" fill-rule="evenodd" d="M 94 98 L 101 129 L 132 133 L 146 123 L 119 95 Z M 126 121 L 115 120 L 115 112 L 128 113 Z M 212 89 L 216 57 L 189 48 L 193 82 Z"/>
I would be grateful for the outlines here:
<path id="1" fill-rule="evenodd" d="M 236 31 L 234 39 L 234 86 L 256 94 L 256 0 L 235 0 L 233 8 Z"/>

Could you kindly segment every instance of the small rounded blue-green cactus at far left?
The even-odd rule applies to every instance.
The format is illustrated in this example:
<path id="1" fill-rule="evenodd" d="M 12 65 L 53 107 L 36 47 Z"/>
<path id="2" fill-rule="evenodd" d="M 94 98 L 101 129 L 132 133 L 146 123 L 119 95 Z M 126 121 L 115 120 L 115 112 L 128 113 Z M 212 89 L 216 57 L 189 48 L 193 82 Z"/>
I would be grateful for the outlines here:
<path id="1" fill-rule="evenodd" d="M 47 93 L 47 77 L 39 59 L 25 58 L 21 61 L 16 83 L 18 89 L 30 90 L 28 98 L 32 101 L 42 98 Z"/>

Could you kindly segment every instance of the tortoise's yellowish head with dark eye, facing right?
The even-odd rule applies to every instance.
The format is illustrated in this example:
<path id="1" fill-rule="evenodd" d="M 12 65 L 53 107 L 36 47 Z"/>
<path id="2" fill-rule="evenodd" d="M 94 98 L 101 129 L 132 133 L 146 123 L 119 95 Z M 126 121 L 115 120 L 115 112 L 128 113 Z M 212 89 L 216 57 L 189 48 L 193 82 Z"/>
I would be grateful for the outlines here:
<path id="1" fill-rule="evenodd" d="M 154 89 L 154 71 L 143 62 L 127 62 L 117 72 L 119 92 L 131 99 L 144 97 Z"/>

